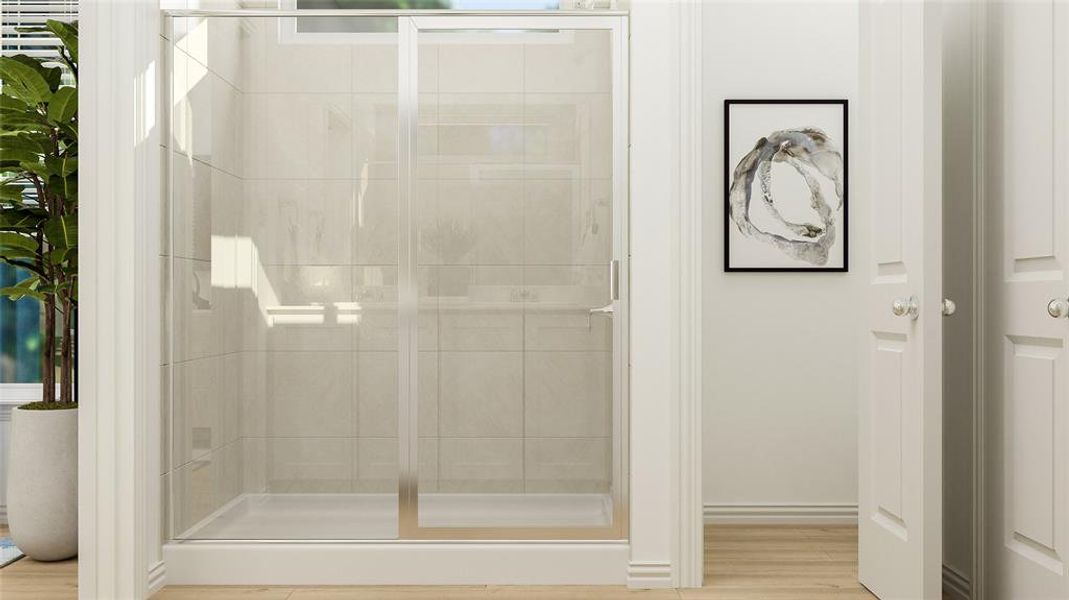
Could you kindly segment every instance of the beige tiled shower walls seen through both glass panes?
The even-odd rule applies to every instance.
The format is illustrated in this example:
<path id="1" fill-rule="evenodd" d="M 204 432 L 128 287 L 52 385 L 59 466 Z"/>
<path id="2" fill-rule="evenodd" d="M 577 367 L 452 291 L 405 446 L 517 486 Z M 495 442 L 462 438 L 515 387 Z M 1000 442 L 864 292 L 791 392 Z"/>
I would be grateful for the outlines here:
<path id="1" fill-rule="evenodd" d="M 162 259 L 176 520 L 242 491 L 392 493 L 396 47 L 280 44 L 274 19 L 197 31 L 174 52 Z M 420 489 L 606 492 L 607 34 L 441 35 L 419 53 Z"/>

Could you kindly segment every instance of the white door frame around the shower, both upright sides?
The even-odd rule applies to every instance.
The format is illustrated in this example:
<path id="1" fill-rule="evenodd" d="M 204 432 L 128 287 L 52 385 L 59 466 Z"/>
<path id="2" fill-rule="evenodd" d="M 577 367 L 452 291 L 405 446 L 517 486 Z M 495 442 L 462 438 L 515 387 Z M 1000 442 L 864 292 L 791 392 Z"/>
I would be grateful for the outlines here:
<path id="1" fill-rule="evenodd" d="M 166 2 L 166 0 L 165 0 Z M 170 3 L 173 6 L 173 3 Z M 174 6 L 177 7 L 177 6 Z M 633 0 L 631 558 L 701 583 L 701 5 Z M 160 561 L 159 0 L 81 6 L 79 598 L 146 598 Z"/>

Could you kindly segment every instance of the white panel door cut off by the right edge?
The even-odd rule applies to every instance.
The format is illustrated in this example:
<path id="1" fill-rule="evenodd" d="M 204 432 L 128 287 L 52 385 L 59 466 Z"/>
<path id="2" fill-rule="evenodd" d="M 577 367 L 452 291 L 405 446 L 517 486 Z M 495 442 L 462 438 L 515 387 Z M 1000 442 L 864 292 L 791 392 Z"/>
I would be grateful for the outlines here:
<path id="1" fill-rule="evenodd" d="M 1069 4 L 989 7 L 989 598 L 1069 598 Z"/>

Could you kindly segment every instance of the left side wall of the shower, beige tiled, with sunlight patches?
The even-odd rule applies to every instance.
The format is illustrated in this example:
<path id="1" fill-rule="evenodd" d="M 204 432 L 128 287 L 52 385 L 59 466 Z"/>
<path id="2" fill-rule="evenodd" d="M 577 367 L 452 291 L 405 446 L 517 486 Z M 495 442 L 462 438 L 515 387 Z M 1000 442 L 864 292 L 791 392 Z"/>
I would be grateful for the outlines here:
<path id="1" fill-rule="evenodd" d="M 245 187 L 239 24 L 175 19 L 173 33 L 173 46 L 164 41 L 172 94 L 164 98 L 171 121 L 161 138 L 162 172 L 173 187 L 161 236 L 171 311 L 164 326 L 161 470 L 179 535 L 243 489 L 241 307 L 250 290 L 236 253 Z"/>

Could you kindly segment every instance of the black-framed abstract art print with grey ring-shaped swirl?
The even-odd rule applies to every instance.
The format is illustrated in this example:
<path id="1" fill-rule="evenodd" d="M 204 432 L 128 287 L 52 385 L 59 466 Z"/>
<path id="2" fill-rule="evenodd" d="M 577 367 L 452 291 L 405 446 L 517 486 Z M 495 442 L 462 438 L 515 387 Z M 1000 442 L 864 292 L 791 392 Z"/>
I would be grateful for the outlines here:
<path id="1" fill-rule="evenodd" d="M 724 101 L 724 270 L 846 272 L 847 101 Z"/>

